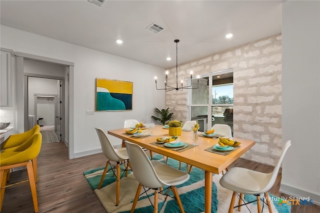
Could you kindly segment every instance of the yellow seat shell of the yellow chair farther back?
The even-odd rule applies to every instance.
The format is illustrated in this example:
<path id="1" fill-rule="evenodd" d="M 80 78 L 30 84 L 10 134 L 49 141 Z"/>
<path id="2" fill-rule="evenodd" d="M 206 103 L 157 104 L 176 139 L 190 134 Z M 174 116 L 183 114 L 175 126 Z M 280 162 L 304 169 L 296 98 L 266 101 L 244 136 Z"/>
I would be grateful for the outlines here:
<path id="1" fill-rule="evenodd" d="M 3 146 L 2 149 L 3 151 L 12 151 L 14 147 L 17 147 L 21 144 L 23 144 L 24 142 L 26 142 L 29 138 L 31 138 L 31 136 L 34 133 L 38 133 L 40 132 L 40 126 L 39 125 L 35 125 L 32 129 L 30 129 L 29 131 L 23 132 L 23 133 L 19 133 L 19 134 L 14 134 L 14 135 L 10 135 L 4 142 L 3 142 Z"/>

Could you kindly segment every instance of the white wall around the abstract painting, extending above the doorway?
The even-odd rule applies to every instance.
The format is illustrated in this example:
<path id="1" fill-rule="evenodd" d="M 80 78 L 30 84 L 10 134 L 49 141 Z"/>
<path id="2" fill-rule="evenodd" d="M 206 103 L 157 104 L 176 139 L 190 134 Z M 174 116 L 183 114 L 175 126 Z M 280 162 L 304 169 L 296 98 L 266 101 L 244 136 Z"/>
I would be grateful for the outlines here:
<path id="1" fill-rule="evenodd" d="M 48 37 L 1 25 L 1 47 L 34 55 L 74 62 L 70 73 L 70 158 L 100 152 L 94 127 L 121 128 L 125 119 L 151 122 L 154 107 L 164 108 L 164 92 L 155 90 L 153 77 L 163 74 L 163 69 L 115 55 L 58 41 Z M 95 112 L 95 78 L 133 82 L 132 111 Z M 161 79 L 160 79 L 161 80 Z M 18 122 L 22 122 L 19 120 Z M 110 137 L 114 145 L 119 139 Z M 73 143 L 72 145 L 70 144 Z"/>

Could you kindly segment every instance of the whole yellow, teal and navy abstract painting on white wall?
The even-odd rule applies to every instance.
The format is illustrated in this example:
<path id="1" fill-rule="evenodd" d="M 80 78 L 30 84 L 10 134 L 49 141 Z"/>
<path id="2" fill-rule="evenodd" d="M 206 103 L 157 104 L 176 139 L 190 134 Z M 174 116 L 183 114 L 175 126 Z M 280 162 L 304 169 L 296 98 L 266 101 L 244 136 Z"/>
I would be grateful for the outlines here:
<path id="1" fill-rule="evenodd" d="M 96 111 L 132 110 L 133 82 L 96 78 Z"/>

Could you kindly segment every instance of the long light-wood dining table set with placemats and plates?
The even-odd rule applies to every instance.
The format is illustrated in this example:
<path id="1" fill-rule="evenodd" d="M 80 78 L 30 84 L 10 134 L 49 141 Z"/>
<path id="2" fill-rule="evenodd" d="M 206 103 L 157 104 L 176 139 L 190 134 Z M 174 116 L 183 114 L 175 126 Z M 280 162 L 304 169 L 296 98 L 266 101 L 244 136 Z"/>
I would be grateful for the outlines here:
<path id="1" fill-rule="evenodd" d="M 143 130 L 146 133 L 147 131 L 151 131 L 151 136 L 145 138 L 131 137 L 131 135 L 125 133 L 125 130 L 127 129 L 128 128 L 108 130 L 107 133 L 122 140 L 135 143 L 152 152 L 167 156 L 169 158 L 184 162 L 188 165 L 204 170 L 205 213 L 211 213 L 212 173 L 220 174 L 223 170 L 227 169 L 227 167 L 230 166 L 230 164 L 232 164 L 236 159 L 238 159 L 243 153 L 248 151 L 255 143 L 251 140 L 231 138 L 232 140 L 241 142 L 240 147 L 234 152 L 229 153 L 228 155 L 220 155 L 205 151 L 205 149 L 213 147 L 215 144 L 217 144 L 218 139 L 198 137 L 198 146 L 192 147 L 182 152 L 178 152 L 151 144 L 155 142 L 156 138 L 158 137 L 169 136 L 168 129 L 165 129 L 163 126 L 156 125 L 154 128 L 150 130 Z M 178 136 L 178 139 L 180 139 L 184 143 L 192 144 L 192 134 L 192 131 L 182 131 L 181 135 Z"/>

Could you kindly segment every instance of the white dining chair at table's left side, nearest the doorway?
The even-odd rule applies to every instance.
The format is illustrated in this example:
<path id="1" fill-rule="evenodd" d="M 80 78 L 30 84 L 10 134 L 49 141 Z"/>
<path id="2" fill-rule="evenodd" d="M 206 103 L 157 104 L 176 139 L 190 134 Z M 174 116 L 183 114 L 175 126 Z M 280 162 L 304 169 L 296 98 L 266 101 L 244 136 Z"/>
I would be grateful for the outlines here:
<path id="1" fill-rule="evenodd" d="M 103 170 L 103 174 L 102 177 L 100 179 L 100 183 L 98 185 L 98 189 L 101 188 L 101 185 L 103 183 L 104 180 L 104 176 L 108 171 L 112 172 L 114 170 L 116 170 L 116 195 L 115 195 L 115 206 L 119 205 L 119 190 L 120 190 L 120 166 L 122 164 L 124 164 L 125 166 L 125 176 L 127 176 L 127 171 L 130 167 L 130 163 L 129 163 L 129 158 L 128 158 L 128 154 L 126 152 L 126 148 L 117 148 L 114 149 L 112 144 L 110 143 L 109 139 L 107 138 L 107 136 L 105 135 L 105 133 L 98 128 L 95 128 L 96 133 L 98 135 L 100 144 L 101 144 L 101 149 L 103 152 L 103 155 L 105 156 L 106 159 L 108 159 L 108 161 L 106 162 L 105 168 Z M 116 165 L 112 165 L 111 162 L 116 162 Z M 126 165 L 125 165 L 125 161 L 126 161 Z M 122 163 L 123 162 L 123 163 Z M 110 169 L 108 170 L 108 166 L 110 165 Z M 114 173 L 114 172 L 113 172 Z"/>

